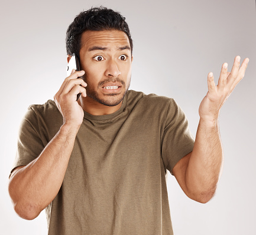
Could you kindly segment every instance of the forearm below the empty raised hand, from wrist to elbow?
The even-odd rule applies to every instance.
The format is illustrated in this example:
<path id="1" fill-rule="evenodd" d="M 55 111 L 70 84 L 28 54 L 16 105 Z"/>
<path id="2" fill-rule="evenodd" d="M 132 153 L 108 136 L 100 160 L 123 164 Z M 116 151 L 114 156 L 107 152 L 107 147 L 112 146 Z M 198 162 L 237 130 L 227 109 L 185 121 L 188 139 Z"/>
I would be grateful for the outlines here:
<path id="1" fill-rule="evenodd" d="M 209 123 L 202 118 L 186 170 L 186 185 L 192 197 L 206 202 L 213 197 L 223 161 L 218 119 Z"/>

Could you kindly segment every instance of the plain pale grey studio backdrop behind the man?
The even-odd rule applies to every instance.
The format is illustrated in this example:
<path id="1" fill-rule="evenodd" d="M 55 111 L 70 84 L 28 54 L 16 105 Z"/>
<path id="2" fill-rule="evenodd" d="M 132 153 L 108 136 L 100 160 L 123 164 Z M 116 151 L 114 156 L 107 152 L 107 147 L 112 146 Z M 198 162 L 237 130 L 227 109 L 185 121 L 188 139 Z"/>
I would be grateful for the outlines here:
<path id="1" fill-rule="evenodd" d="M 225 154 L 215 197 L 207 204 L 185 196 L 168 175 L 174 234 L 254 234 L 256 220 L 254 0 L 1 1 L 0 234 L 47 234 L 45 213 L 23 220 L 8 195 L 17 133 L 28 105 L 43 104 L 66 77 L 65 34 L 74 16 L 108 6 L 127 18 L 134 40 L 131 89 L 173 97 L 196 134 L 198 108 L 221 66 L 250 59 L 245 78 L 221 111 Z"/>

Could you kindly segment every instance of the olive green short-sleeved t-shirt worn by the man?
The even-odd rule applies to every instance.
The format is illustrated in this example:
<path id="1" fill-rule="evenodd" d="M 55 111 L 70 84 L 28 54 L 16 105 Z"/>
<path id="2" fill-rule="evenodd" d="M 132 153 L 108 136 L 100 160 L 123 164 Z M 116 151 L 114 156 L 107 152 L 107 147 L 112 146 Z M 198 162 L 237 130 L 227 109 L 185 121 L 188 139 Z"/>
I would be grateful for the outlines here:
<path id="1" fill-rule="evenodd" d="M 54 101 L 31 105 L 14 168 L 37 158 L 62 123 Z M 113 114 L 85 112 L 60 191 L 46 208 L 48 234 L 173 234 L 166 170 L 193 144 L 171 98 L 129 90 Z"/>

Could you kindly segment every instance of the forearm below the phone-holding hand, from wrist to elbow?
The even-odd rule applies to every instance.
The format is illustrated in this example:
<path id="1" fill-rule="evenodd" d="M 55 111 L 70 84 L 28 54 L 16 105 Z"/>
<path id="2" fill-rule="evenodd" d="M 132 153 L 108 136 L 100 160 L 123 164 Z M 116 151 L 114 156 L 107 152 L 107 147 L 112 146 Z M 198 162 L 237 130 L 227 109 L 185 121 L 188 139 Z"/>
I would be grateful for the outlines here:
<path id="1" fill-rule="evenodd" d="M 56 197 L 77 131 L 78 128 L 63 125 L 43 152 L 11 177 L 9 194 L 21 217 L 34 219 Z"/>

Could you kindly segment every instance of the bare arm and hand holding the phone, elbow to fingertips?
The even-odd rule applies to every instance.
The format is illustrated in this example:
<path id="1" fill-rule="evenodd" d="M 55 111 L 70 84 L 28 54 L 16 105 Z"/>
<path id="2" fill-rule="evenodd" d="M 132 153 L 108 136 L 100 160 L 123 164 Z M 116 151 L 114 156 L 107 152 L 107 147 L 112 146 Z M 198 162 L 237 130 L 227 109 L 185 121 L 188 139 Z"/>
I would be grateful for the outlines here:
<path id="1" fill-rule="evenodd" d="M 86 83 L 77 77 L 84 71 L 66 78 L 54 96 L 63 115 L 63 125 L 43 152 L 27 166 L 16 168 L 9 180 L 9 194 L 15 211 L 31 220 L 51 203 L 60 190 L 77 131 L 83 120 L 83 109 L 76 101 L 81 92 L 86 97 Z"/>

